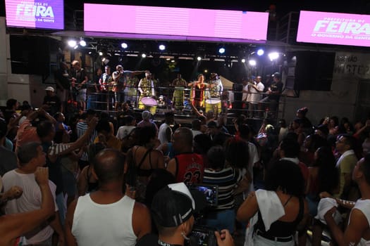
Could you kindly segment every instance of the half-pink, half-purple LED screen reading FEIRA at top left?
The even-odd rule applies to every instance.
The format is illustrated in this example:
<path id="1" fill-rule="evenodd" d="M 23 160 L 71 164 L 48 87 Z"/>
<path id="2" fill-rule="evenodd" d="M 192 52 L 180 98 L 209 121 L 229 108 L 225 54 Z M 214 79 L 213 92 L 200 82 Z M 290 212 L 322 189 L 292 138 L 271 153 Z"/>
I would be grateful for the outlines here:
<path id="1" fill-rule="evenodd" d="M 6 25 L 63 30 L 63 0 L 6 0 Z"/>

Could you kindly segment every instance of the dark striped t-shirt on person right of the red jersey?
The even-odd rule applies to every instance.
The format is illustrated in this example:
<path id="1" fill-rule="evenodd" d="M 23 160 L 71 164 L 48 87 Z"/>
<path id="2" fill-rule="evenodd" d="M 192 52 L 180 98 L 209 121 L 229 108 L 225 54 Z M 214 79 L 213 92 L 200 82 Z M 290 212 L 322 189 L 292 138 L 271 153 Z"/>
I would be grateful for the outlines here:
<path id="1" fill-rule="evenodd" d="M 204 169 L 203 183 L 218 186 L 218 205 L 215 209 L 231 209 L 234 207 L 233 191 L 242 180 L 240 171 L 226 167 L 220 171 Z"/>

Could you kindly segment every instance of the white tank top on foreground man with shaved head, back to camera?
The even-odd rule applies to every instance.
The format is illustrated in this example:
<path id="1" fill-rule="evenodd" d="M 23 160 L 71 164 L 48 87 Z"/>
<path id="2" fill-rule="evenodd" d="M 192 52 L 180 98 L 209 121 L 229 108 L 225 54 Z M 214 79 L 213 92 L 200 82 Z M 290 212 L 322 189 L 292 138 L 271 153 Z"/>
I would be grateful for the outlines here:
<path id="1" fill-rule="evenodd" d="M 118 202 L 101 205 L 90 194 L 78 198 L 73 214 L 72 234 L 79 246 L 133 246 L 137 236 L 132 228 L 135 200 L 125 195 Z"/>

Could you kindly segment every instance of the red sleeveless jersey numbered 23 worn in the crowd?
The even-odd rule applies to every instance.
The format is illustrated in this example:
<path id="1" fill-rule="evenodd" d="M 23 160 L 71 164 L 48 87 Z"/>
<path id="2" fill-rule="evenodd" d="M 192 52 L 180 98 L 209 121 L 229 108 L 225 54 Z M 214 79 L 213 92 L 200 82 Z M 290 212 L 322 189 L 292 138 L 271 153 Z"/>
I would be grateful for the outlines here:
<path id="1" fill-rule="evenodd" d="M 202 155 L 196 153 L 183 153 L 175 156 L 176 181 L 186 185 L 202 183 L 204 162 Z"/>

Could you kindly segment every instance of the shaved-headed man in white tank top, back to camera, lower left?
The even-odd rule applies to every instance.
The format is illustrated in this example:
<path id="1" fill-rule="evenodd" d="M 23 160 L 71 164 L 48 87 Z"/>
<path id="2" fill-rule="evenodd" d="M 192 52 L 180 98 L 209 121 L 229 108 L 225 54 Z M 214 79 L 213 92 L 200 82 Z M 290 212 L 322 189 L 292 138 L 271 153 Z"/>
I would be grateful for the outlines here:
<path id="1" fill-rule="evenodd" d="M 102 150 L 92 174 L 99 189 L 73 201 L 66 216 L 67 245 L 135 245 L 152 230 L 149 209 L 123 194 L 125 156 Z"/>

